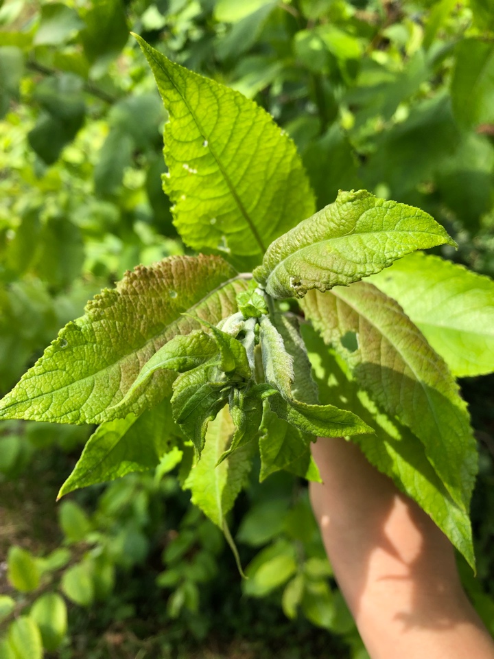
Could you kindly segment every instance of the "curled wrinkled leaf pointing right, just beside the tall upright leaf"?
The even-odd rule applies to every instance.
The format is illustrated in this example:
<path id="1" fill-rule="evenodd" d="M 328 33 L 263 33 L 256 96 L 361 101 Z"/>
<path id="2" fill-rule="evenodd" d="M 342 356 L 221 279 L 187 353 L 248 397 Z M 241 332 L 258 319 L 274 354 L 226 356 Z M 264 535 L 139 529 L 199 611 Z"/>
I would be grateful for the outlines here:
<path id="1" fill-rule="evenodd" d="M 340 192 L 336 201 L 275 240 L 254 277 L 275 298 L 347 286 L 378 273 L 416 249 L 456 246 L 445 229 L 417 208 L 370 192 Z"/>

